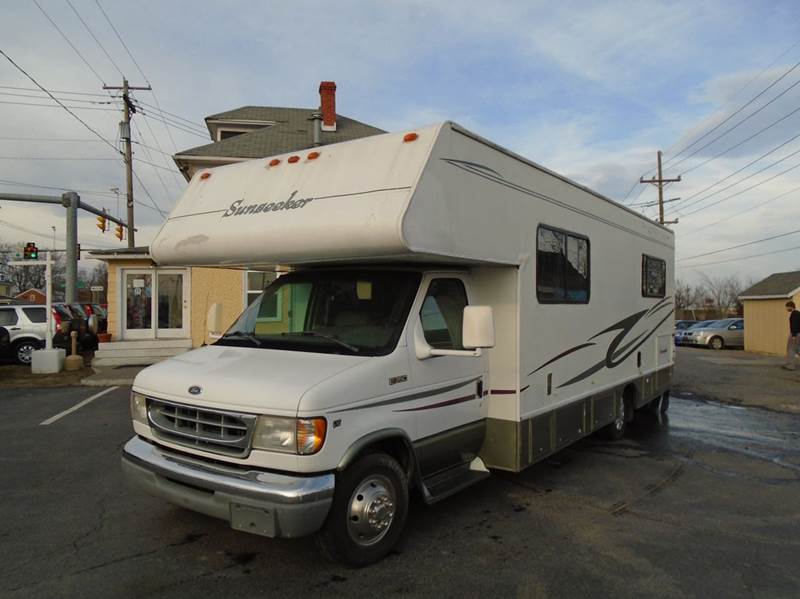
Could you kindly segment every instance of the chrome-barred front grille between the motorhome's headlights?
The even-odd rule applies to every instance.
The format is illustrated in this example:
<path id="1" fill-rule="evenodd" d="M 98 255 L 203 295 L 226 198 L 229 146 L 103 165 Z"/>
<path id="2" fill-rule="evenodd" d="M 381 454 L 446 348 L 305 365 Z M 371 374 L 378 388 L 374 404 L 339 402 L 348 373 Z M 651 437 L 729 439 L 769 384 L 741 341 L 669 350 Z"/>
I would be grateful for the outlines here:
<path id="1" fill-rule="evenodd" d="M 147 400 L 147 418 L 158 436 L 166 440 L 214 453 L 244 456 L 250 450 L 250 436 L 256 417 Z"/>

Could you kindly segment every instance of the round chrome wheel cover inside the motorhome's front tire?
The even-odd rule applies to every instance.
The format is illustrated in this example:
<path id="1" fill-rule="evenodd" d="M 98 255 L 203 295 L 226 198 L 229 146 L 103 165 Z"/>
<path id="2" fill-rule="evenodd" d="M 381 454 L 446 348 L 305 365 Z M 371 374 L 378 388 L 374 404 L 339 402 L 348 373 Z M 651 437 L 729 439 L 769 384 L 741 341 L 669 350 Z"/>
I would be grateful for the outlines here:
<path id="1" fill-rule="evenodd" d="M 347 509 L 347 533 L 358 545 L 378 543 L 394 521 L 397 493 L 391 481 L 372 474 L 356 487 Z"/>

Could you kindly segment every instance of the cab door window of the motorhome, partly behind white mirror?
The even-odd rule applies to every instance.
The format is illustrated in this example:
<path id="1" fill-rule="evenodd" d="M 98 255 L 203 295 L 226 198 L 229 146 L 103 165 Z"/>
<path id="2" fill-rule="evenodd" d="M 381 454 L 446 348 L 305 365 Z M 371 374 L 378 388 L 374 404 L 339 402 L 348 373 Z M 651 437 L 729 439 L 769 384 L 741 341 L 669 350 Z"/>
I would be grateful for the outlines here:
<path id="1" fill-rule="evenodd" d="M 419 312 L 425 341 L 434 349 L 464 349 L 461 328 L 467 292 L 458 279 L 435 279 Z"/>

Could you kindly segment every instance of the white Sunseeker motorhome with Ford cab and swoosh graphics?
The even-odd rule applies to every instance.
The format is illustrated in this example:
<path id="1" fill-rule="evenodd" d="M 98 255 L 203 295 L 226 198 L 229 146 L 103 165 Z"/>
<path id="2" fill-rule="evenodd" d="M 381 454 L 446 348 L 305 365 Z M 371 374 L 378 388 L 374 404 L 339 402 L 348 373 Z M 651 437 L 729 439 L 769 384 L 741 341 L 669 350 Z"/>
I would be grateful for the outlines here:
<path id="1" fill-rule="evenodd" d="M 200 172 L 155 261 L 285 274 L 136 377 L 123 467 L 235 529 L 378 560 L 410 492 L 666 409 L 673 246 L 452 122 Z"/>

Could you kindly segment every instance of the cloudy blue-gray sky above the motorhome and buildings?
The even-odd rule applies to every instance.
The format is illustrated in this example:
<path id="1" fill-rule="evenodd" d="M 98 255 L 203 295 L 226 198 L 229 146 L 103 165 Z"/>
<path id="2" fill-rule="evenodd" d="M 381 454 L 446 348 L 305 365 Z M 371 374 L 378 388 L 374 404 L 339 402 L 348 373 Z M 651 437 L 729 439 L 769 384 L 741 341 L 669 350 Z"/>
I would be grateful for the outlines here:
<path id="1" fill-rule="evenodd" d="M 206 116 L 242 105 L 316 107 L 319 82 L 334 80 L 342 115 L 388 131 L 454 120 L 651 218 L 656 190 L 634 184 L 653 176 L 662 150 L 664 176 L 682 177 L 665 190 L 681 198 L 666 204 L 667 218 L 679 220 L 678 278 L 754 281 L 800 269 L 800 231 L 792 233 L 800 230 L 796 1 L 333 7 L 6 2 L 0 49 L 111 145 L 31 91 L 31 80 L 0 56 L 0 190 L 74 189 L 87 203 L 124 212 L 111 191 L 125 184 L 112 147 L 120 105 L 102 86 L 120 85 L 123 73 L 131 85 L 149 82 L 155 93 L 136 92 L 137 100 L 173 116 L 161 120 L 146 106 L 134 116 L 144 184 L 135 185 L 136 241 L 146 244 L 163 220 L 156 207 L 168 213 L 185 186 L 170 155 L 210 141 Z M 58 207 L 0 201 L 0 241 L 50 247 L 55 227 L 63 248 L 64 220 Z M 772 236 L 780 237 L 726 250 Z M 88 213 L 79 237 L 83 248 L 123 245 Z"/>

